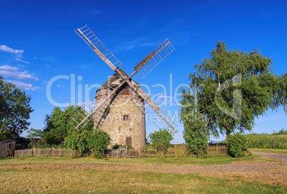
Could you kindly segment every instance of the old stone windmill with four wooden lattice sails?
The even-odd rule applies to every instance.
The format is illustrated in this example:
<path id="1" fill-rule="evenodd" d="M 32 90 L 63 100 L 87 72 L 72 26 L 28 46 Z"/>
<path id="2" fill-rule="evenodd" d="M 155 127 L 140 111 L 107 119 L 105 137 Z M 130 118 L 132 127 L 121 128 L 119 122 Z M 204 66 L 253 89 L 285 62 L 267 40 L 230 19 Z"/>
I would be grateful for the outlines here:
<path id="1" fill-rule="evenodd" d="M 172 129 L 176 127 L 139 84 L 131 79 L 136 73 L 144 78 L 175 49 L 168 39 L 151 51 L 134 67 L 134 72 L 128 75 L 119 68 L 122 66 L 119 59 L 104 46 L 89 26 L 76 29 L 76 34 L 115 72 L 96 91 L 96 96 L 82 106 L 85 111 L 79 111 L 71 118 L 76 123 L 76 129 L 81 130 L 87 123 L 93 121 L 94 128 L 99 127 L 111 136 L 112 144 L 129 143 L 139 149 L 146 143 L 147 104 L 161 118 L 153 120 L 156 126 L 159 128 L 169 126 Z"/>

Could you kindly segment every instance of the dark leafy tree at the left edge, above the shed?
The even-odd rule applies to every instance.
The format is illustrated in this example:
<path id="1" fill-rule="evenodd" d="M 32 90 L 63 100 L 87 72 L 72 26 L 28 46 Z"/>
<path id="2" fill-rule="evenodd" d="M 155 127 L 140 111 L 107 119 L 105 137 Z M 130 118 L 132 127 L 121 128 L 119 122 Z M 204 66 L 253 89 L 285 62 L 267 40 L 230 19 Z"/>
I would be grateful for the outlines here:
<path id="1" fill-rule="evenodd" d="M 0 139 L 19 138 L 30 125 L 31 98 L 0 76 Z"/>

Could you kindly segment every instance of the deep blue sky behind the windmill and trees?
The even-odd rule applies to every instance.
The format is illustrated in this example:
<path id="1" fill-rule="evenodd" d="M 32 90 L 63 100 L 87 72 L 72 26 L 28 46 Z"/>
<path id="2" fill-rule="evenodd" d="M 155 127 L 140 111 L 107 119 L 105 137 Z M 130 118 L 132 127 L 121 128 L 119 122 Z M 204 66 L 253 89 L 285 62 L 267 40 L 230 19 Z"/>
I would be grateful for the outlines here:
<path id="1" fill-rule="evenodd" d="M 179 110 L 177 88 L 189 83 L 193 66 L 219 40 L 233 50 L 258 48 L 273 60 L 274 73 L 286 72 L 286 9 L 285 1 L 1 0 L 0 73 L 31 96 L 31 127 L 43 128 L 54 103 L 82 103 L 114 73 L 74 30 L 88 24 L 128 74 L 169 38 L 176 50 L 145 78 L 133 78 L 148 86 L 144 90 L 164 111 L 174 113 Z M 182 143 L 183 126 L 176 122 Z M 281 128 L 287 129 L 283 108 L 256 119 L 253 132 Z M 156 130 L 147 123 L 147 134 Z"/>

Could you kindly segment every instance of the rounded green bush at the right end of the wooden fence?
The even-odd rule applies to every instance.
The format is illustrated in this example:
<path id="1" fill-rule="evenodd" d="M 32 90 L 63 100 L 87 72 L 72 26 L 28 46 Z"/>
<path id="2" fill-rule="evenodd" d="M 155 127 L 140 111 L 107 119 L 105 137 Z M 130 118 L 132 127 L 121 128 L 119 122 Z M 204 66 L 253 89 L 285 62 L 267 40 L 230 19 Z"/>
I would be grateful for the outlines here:
<path id="1" fill-rule="evenodd" d="M 243 155 L 243 150 L 247 150 L 247 140 L 241 133 L 235 133 L 228 136 L 228 153 L 233 158 L 238 158 Z"/>

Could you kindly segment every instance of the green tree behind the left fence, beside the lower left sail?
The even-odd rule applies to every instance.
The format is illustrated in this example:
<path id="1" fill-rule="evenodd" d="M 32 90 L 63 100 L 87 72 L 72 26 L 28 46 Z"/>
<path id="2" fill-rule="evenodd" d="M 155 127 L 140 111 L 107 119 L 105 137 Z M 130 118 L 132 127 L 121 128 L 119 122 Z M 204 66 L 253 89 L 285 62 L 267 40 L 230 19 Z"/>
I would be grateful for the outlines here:
<path id="1" fill-rule="evenodd" d="M 46 115 L 45 127 L 43 131 L 44 142 L 51 146 L 63 145 L 64 139 L 68 136 L 70 130 L 74 130 L 73 120 L 70 120 L 75 113 L 85 114 L 80 106 L 68 106 L 61 110 L 59 107 L 55 107 L 51 113 L 51 116 Z M 93 123 L 89 122 L 86 128 L 93 128 Z"/>

